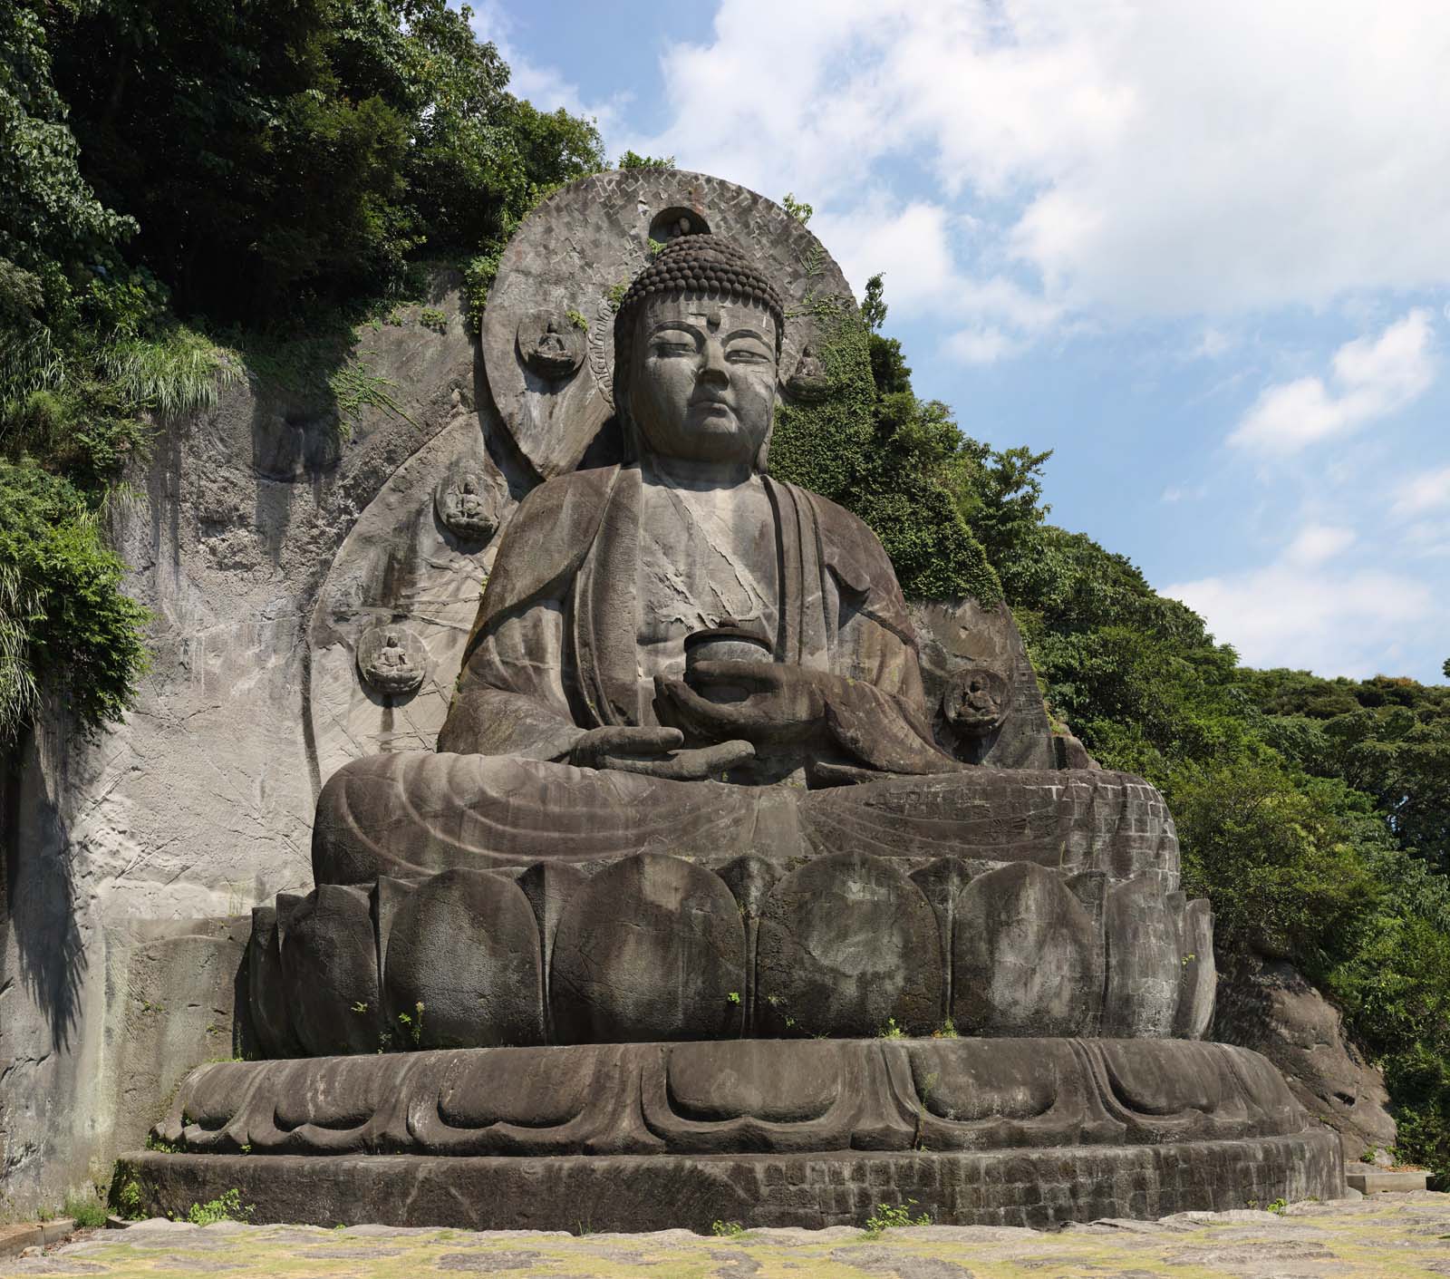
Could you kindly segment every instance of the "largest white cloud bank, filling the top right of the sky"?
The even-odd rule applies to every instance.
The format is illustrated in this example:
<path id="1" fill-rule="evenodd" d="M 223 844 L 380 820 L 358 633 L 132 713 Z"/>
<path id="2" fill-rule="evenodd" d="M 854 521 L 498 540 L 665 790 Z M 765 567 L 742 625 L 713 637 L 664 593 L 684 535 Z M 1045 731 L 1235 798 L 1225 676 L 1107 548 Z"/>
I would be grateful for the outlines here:
<path id="1" fill-rule="evenodd" d="M 631 145 L 832 218 L 921 164 L 1053 307 L 1320 305 L 1450 281 L 1447 55 L 1443 0 L 722 0 Z"/>

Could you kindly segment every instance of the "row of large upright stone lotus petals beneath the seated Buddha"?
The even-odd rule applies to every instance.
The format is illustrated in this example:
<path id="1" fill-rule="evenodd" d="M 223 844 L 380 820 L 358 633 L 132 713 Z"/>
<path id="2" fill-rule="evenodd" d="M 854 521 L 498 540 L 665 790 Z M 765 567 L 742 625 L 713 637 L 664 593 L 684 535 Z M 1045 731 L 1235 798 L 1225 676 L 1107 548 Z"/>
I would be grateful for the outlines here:
<path id="1" fill-rule="evenodd" d="M 753 856 L 721 864 L 650 853 L 412 882 L 384 876 L 371 886 L 367 921 L 373 953 L 380 964 L 386 957 L 378 1032 L 394 1047 L 418 1047 L 415 1005 L 441 1001 L 444 1021 L 452 1012 L 442 1009 L 463 1008 L 478 1019 L 460 1012 L 447 1037 L 429 1044 L 539 1043 L 542 973 L 550 1043 L 587 1043 L 605 1025 L 612 1040 L 857 1035 L 890 1021 L 927 1031 L 948 1015 L 973 1034 L 1098 1034 L 1116 947 L 1112 989 L 1122 1025 L 1140 1035 L 1199 1037 L 1212 1012 L 1212 964 L 1204 972 L 1180 948 L 1202 944 L 1202 903 L 1164 896 L 1150 877 L 1153 911 L 1144 911 L 1134 880 L 1109 934 L 1103 895 L 1112 883 L 1105 872 L 1064 874 L 1031 861 L 919 864 L 867 854 L 826 854 L 795 870 Z M 260 1009 L 262 1053 L 287 1057 L 312 1034 L 302 1025 L 307 1008 L 365 1001 L 351 961 L 335 973 L 307 969 L 304 999 L 277 1001 L 255 985 L 277 980 L 262 963 L 270 935 L 286 935 L 309 899 L 283 893 L 277 902 L 276 924 L 258 915 L 249 999 Z M 673 932 L 680 937 L 671 941 Z M 368 950 L 358 938 L 349 953 Z M 682 986 L 677 973 L 692 976 Z M 286 972 L 280 980 L 286 995 Z M 677 1032 L 671 1017 L 682 1018 Z M 429 1018 L 429 1034 L 442 1034 L 444 1021 Z M 352 1050 L 373 1047 L 360 1038 Z"/>

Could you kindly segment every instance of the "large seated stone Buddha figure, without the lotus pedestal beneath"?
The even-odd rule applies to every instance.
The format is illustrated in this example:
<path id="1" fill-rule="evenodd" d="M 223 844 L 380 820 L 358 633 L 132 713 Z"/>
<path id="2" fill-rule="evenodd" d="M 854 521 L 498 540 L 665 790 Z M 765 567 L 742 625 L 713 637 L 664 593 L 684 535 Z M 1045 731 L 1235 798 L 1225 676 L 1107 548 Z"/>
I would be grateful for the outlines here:
<path id="1" fill-rule="evenodd" d="M 1073 844 L 1085 867 L 1176 876 L 1156 796 L 1119 821 L 1074 808 L 1063 773 L 1005 787 L 937 747 L 880 542 L 766 473 L 783 323 L 774 286 L 716 236 L 671 239 L 644 268 L 615 318 L 626 461 L 525 499 L 439 753 L 332 777 L 313 831 L 319 883 L 638 851 L 922 857 L 967 844 L 1053 866 Z"/>

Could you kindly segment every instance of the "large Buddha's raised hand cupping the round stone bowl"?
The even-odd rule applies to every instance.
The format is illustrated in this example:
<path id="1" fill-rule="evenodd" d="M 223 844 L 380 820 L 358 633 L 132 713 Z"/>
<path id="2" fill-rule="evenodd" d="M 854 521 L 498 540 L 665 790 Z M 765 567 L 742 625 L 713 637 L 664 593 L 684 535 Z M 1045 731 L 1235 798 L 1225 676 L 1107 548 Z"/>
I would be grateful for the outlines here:
<path id="1" fill-rule="evenodd" d="M 684 680 L 657 677 L 668 718 L 706 741 L 806 741 L 825 722 L 835 677 L 780 661 L 702 661 Z"/>

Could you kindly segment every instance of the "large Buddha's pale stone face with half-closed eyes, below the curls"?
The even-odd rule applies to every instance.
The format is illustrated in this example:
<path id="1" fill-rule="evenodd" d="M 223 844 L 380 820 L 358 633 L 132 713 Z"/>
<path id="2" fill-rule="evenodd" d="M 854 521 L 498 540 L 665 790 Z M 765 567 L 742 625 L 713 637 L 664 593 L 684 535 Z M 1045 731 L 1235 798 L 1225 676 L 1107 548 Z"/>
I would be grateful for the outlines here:
<path id="1" fill-rule="evenodd" d="M 776 407 L 776 320 L 750 302 L 655 294 L 635 319 L 629 412 L 654 454 L 755 461 Z"/>

